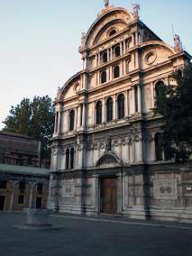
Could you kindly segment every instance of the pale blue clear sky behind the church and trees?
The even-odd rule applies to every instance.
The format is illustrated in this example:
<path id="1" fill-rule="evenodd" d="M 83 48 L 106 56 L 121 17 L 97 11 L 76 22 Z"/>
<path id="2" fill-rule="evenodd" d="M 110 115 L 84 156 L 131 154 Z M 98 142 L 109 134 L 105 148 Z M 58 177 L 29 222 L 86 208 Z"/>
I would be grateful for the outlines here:
<path id="1" fill-rule="evenodd" d="M 172 44 L 171 24 L 192 54 L 191 0 L 137 0 L 141 19 Z M 135 1 L 111 0 L 132 9 Z M 0 129 L 23 97 L 56 95 L 82 68 L 81 32 L 96 20 L 102 0 L 0 0 Z"/>

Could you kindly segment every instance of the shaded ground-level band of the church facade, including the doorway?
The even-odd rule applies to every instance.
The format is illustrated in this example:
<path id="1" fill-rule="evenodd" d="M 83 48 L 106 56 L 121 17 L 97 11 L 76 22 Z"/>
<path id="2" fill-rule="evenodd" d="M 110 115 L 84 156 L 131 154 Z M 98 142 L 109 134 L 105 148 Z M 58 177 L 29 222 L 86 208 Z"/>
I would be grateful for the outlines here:
<path id="1" fill-rule="evenodd" d="M 191 223 L 192 165 L 156 162 L 52 172 L 50 209 Z"/>

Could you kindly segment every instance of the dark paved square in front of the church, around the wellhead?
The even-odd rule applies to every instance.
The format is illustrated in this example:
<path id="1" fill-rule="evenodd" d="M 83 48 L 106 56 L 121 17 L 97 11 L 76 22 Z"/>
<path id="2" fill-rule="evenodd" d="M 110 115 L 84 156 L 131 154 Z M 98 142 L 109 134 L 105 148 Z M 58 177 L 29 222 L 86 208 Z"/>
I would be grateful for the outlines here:
<path id="1" fill-rule="evenodd" d="M 22 218 L 21 214 L 0 214 L 1 256 L 192 256 L 191 225 L 178 228 L 119 217 L 54 215 L 50 222 L 62 226 L 61 230 L 14 229 Z"/>

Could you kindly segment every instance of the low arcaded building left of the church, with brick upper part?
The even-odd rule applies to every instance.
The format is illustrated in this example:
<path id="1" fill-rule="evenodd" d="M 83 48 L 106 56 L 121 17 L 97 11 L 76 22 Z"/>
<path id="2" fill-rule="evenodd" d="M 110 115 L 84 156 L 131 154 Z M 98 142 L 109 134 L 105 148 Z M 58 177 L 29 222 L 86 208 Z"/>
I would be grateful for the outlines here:
<path id="1" fill-rule="evenodd" d="M 40 165 L 41 142 L 0 132 L 0 211 L 47 206 L 50 170 Z"/>

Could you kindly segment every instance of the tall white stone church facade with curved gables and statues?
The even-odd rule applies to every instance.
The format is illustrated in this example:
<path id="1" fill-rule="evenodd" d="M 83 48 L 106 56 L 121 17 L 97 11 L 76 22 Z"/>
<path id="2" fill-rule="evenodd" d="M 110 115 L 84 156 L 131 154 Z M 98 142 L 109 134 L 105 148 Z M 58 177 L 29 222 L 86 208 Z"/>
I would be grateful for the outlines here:
<path id="1" fill-rule="evenodd" d="M 133 12 L 108 5 L 79 53 L 83 69 L 59 88 L 52 137 L 50 209 L 137 219 L 192 221 L 192 169 L 160 147 L 158 87 L 191 57 Z"/>

